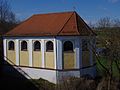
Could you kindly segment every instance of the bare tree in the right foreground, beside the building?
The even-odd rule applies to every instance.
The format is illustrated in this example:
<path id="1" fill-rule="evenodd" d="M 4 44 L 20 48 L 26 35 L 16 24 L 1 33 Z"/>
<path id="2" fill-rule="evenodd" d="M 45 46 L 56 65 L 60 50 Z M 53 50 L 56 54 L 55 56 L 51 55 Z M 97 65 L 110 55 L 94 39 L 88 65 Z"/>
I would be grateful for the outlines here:
<path id="1" fill-rule="evenodd" d="M 113 79 L 114 65 L 116 64 L 120 77 L 120 20 L 110 19 L 108 17 L 102 18 L 97 22 L 97 28 L 100 29 L 101 34 L 98 34 L 101 46 L 106 48 L 104 57 L 108 65 L 100 65 L 106 70 L 108 80 L 108 90 L 111 89 L 111 82 Z M 99 59 L 99 58 L 98 58 Z"/>

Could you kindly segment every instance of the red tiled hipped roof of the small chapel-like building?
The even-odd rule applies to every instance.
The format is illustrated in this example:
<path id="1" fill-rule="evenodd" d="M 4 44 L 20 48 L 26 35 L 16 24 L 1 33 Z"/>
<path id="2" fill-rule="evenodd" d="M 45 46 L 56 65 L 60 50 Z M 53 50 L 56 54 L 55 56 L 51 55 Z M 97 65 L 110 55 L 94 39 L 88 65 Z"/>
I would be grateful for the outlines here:
<path id="1" fill-rule="evenodd" d="M 93 35 L 76 12 L 33 15 L 5 36 Z"/>

